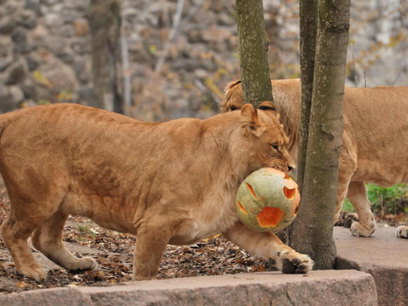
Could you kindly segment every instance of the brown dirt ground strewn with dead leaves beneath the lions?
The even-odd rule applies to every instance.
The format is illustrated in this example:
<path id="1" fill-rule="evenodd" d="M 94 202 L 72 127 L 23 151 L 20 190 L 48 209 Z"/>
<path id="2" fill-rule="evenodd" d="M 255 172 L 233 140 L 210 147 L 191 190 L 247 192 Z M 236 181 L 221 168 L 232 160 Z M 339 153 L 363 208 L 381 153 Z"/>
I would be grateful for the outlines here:
<path id="1" fill-rule="evenodd" d="M 0 185 L 0 224 L 9 212 L 5 189 Z M 337 225 L 350 227 L 355 215 L 342 213 Z M 400 218 L 401 219 L 401 218 Z M 381 222 L 398 223 L 398 216 L 383 217 Z M 405 219 L 402 220 L 406 222 Z M 283 233 L 281 233 L 281 236 Z M 9 251 L 0 238 L 0 295 L 24 290 L 63 286 L 110 286 L 131 281 L 135 237 L 100 228 L 84 217 L 69 217 L 64 230 L 67 247 L 77 256 L 92 256 L 98 267 L 81 274 L 70 274 L 31 248 L 47 280 L 35 282 L 17 275 Z M 252 256 L 223 237 L 204 239 L 191 246 L 167 246 L 158 278 L 222 275 L 241 272 L 273 271 L 264 259 Z"/>

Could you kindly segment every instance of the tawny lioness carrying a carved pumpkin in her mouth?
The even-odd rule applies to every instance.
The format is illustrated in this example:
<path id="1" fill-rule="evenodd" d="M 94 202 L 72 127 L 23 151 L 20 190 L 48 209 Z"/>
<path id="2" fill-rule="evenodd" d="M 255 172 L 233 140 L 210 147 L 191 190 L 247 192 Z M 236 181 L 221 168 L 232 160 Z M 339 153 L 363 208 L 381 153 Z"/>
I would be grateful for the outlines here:
<path id="1" fill-rule="evenodd" d="M 19 274 L 44 279 L 33 246 L 68 271 L 92 269 L 62 243 L 69 214 L 137 234 L 133 278 L 153 279 L 167 244 L 222 233 L 284 273 L 307 273 L 308 255 L 237 219 L 235 194 L 260 167 L 294 162 L 271 102 L 207 120 L 153 123 L 80 106 L 52 104 L 0 115 L 0 173 L 11 202 L 1 226 Z"/>

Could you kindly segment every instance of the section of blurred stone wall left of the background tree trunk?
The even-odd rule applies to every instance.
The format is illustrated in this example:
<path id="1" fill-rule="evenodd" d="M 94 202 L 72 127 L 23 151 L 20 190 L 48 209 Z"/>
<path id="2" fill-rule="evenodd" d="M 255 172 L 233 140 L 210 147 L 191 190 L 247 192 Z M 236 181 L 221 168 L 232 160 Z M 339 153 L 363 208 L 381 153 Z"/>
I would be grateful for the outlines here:
<path id="1" fill-rule="evenodd" d="M 89 1 L 0 2 L 0 111 L 86 99 Z"/>

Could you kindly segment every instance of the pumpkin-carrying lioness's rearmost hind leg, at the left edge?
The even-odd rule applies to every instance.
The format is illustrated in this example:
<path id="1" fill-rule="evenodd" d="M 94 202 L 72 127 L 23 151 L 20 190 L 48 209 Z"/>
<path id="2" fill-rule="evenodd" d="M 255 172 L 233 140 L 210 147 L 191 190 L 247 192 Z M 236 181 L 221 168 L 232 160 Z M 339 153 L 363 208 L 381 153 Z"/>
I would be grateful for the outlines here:
<path id="1" fill-rule="evenodd" d="M 27 244 L 28 237 L 38 225 L 35 221 L 28 218 L 16 220 L 13 207 L 11 207 L 9 219 L 1 226 L 1 235 L 13 257 L 17 273 L 36 281 L 42 281 L 47 277 L 47 272 L 35 260 Z"/>

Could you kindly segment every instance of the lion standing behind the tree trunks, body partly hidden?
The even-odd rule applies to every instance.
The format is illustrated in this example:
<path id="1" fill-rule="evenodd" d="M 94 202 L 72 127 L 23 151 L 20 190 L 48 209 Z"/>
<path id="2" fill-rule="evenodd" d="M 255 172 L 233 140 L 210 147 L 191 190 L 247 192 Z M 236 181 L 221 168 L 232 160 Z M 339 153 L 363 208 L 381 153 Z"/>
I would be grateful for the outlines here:
<path id="1" fill-rule="evenodd" d="M 288 152 L 297 160 L 300 122 L 300 79 L 271 80 L 273 101 L 289 137 Z M 241 81 L 226 86 L 222 112 L 240 109 Z M 344 89 L 343 147 L 334 221 L 345 197 L 353 204 L 359 222 L 353 235 L 368 237 L 375 231 L 364 182 L 391 186 L 408 182 L 408 87 L 380 86 Z M 408 238 L 408 226 L 397 228 L 397 237 Z"/>

